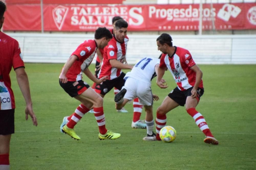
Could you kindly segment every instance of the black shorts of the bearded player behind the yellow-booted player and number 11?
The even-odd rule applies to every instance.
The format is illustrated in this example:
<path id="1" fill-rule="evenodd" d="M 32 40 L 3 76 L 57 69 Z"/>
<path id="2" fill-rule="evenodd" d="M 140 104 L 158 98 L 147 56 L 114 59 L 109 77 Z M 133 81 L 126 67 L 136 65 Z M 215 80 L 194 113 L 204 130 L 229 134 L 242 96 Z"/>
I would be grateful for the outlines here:
<path id="1" fill-rule="evenodd" d="M 118 90 L 121 90 L 125 83 L 124 76 L 125 73 L 122 72 L 121 75 L 115 79 L 106 80 L 103 81 L 101 84 L 97 84 L 95 87 L 95 92 L 105 95 L 111 89 L 113 89 L 113 87 L 117 88 Z"/>

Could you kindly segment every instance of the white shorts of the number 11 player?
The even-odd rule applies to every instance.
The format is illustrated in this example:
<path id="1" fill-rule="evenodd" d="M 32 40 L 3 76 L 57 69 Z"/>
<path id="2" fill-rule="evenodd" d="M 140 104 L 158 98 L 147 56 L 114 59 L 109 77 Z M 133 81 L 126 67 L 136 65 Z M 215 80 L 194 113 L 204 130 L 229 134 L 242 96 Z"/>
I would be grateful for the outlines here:
<path id="1" fill-rule="evenodd" d="M 128 77 L 124 83 L 123 88 L 127 91 L 124 95 L 125 99 L 133 100 L 139 98 L 139 103 L 143 106 L 152 106 L 153 105 L 153 95 L 151 92 L 151 83 L 145 83 Z"/>

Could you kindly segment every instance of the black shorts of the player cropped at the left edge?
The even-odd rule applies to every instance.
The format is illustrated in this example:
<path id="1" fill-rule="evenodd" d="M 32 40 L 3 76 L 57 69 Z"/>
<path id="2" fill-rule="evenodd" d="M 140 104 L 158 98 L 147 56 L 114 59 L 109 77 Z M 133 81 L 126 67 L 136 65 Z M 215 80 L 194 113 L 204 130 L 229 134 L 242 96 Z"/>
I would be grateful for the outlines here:
<path id="1" fill-rule="evenodd" d="M 14 110 L 0 110 L 0 135 L 14 133 Z"/>

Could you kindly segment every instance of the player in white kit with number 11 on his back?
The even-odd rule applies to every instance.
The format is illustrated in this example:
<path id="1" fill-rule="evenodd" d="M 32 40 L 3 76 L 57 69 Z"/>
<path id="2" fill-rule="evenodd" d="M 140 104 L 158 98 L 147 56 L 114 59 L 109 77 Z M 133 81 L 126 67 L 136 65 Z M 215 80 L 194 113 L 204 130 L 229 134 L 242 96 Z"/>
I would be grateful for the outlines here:
<path id="1" fill-rule="evenodd" d="M 160 64 L 160 60 L 152 57 L 145 57 L 141 59 L 132 68 L 131 72 L 128 72 L 124 79 L 126 79 L 122 90 L 115 95 L 116 109 L 122 108 L 127 102 L 138 98 L 139 104 L 144 105 L 146 111 L 146 127 L 147 136 L 155 137 L 153 132 L 154 120 L 153 120 L 153 100 L 159 100 L 157 95 L 151 92 L 151 80 L 157 75 L 157 70 Z M 161 80 L 165 82 L 164 79 Z M 143 140 L 145 140 L 143 138 Z"/>

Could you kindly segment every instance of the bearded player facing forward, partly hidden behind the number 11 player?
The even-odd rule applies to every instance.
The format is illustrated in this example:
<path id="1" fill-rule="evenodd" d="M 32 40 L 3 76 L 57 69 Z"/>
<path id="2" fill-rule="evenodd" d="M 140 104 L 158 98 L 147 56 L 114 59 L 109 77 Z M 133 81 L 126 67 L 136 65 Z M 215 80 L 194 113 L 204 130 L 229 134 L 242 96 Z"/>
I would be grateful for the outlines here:
<path id="1" fill-rule="evenodd" d="M 132 69 L 132 65 L 126 63 L 126 50 L 129 38 L 127 34 L 128 23 L 124 20 L 118 20 L 115 23 L 115 35 L 108 45 L 104 48 L 102 66 L 99 71 L 99 78 L 109 76 L 110 80 L 106 80 L 101 84 L 97 84 L 95 91 L 102 97 L 108 93 L 113 87 L 121 90 L 125 80 L 125 73 L 122 69 Z M 134 101 L 133 128 L 146 128 L 146 124 L 140 120 L 142 105 Z"/>

